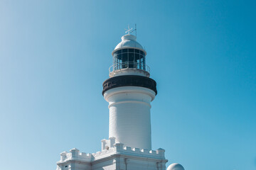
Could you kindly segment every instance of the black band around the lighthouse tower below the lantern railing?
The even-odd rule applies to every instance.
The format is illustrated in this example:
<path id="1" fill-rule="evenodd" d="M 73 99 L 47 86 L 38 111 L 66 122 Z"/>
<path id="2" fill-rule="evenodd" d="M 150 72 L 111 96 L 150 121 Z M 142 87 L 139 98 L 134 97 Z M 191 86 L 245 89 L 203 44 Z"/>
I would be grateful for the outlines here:
<path id="1" fill-rule="evenodd" d="M 154 79 L 150 79 L 149 77 L 134 75 L 111 77 L 110 79 L 104 81 L 102 86 L 102 95 L 104 95 L 104 93 L 110 89 L 121 86 L 141 86 L 147 89 L 151 89 L 157 94 L 156 81 L 154 81 Z"/>

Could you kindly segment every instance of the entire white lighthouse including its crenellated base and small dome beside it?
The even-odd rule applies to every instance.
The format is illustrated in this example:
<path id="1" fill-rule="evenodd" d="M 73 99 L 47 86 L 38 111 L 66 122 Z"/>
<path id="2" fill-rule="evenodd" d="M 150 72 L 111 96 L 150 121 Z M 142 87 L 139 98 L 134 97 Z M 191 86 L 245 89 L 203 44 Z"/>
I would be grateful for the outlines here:
<path id="1" fill-rule="evenodd" d="M 110 78 L 102 95 L 109 103 L 109 139 L 93 154 L 70 149 L 62 152 L 57 170 L 166 170 L 164 149 L 151 149 L 151 101 L 156 81 L 149 78 L 146 51 L 134 35 L 122 36 L 112 52 Z M 171 164 L 168 170 L 183 170 Z"/>

